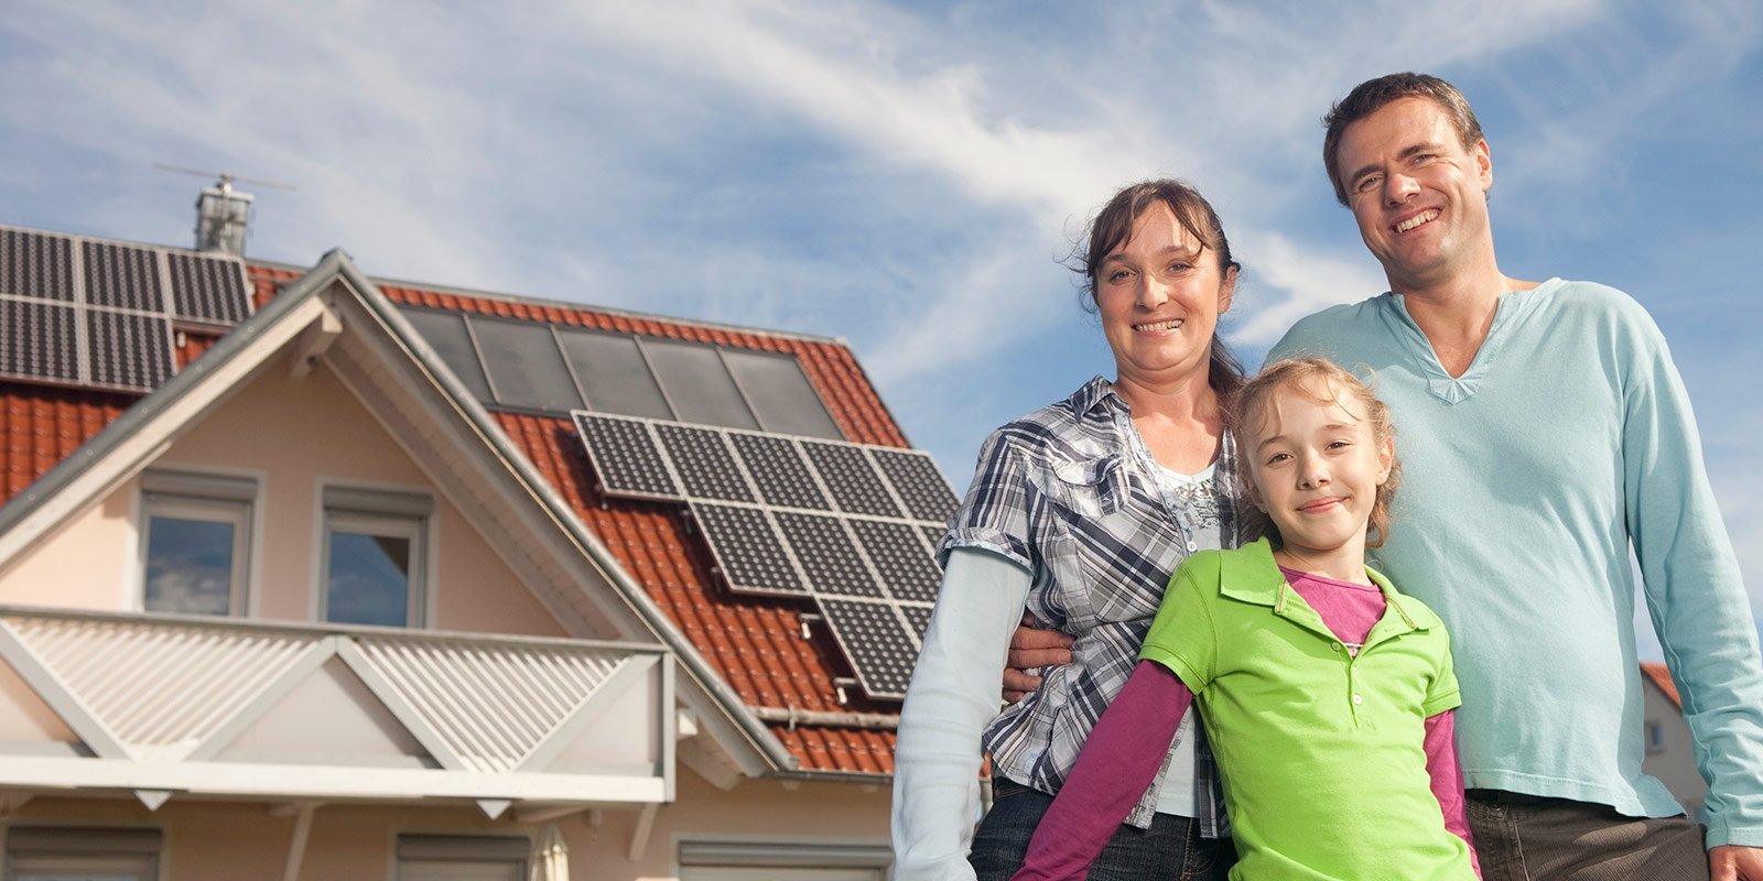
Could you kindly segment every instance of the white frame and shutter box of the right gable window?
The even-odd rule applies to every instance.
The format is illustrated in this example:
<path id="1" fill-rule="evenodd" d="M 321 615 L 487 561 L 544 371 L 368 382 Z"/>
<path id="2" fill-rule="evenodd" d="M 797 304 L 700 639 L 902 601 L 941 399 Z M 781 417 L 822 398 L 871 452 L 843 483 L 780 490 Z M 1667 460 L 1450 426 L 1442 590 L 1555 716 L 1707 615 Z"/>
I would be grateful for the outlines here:
<path id="1" fill-rule="evenodd" d="M 402 537 L 411 543 L 409 592 L 404 597 L 404 627 L 427 627 L 434 596 L 430 553 L 434 543 L 434 497 L 411 490 L 379 490 L 356 485 L 326 485 L 319 490 L 317 620 L 330 622 L 331 534 Z"/>

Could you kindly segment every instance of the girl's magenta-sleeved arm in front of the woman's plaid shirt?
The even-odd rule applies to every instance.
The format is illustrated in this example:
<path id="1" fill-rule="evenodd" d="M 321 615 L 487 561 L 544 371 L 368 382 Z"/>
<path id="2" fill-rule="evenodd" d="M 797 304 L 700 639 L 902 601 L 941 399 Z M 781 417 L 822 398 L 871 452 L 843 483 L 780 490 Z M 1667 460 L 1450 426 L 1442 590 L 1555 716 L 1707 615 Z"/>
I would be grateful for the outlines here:
<path id="1" fill-rule="evenodd" d="M 1010 881 L 1081 881 L 1151 788 L 1192 703 L 1194 692 L 1169 668 L 1139 661 L 1084 740 L 1077 766 L 1042 814 L 1028 858 Z"/>

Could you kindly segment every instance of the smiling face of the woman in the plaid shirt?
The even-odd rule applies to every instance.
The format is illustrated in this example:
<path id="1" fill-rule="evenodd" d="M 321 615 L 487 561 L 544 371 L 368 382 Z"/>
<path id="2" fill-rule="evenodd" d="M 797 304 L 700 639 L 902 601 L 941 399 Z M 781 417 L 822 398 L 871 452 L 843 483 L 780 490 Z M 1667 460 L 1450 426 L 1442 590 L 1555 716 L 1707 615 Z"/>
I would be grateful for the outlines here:
<path id="1" fill-rule="evenodd" d="M 1218 315 L 1231 308 L 1236 270 L 1153 203 L 1097 268 L 1097 312 L 1123 382 L 1139 388 L 1204 382 Z"/>

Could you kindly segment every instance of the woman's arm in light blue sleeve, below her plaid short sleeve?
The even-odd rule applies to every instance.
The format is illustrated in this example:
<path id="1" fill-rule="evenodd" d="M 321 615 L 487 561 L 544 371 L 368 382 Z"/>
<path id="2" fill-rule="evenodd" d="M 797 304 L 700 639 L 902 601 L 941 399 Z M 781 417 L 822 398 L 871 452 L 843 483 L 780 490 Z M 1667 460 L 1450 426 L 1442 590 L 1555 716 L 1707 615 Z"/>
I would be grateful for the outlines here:
<path id="1" fill-rule="evenodd" d="M 1028 587 L 1028 571 L 996 553 L 948 553 L 899 715 L 894 881 L 973 879 L 968 848 L 980 816 L 980 733 L 998 715 L 998 677 Z"/>

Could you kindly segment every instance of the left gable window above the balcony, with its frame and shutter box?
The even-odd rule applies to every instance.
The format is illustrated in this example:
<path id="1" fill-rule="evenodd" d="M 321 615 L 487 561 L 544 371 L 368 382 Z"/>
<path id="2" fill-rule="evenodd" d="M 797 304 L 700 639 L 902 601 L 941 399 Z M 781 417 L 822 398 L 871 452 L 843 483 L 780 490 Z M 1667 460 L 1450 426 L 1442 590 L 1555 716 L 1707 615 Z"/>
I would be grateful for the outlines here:
<path id="1" fill-rule="evenodd" d="M 243 615 L 257 481 L 171 470 L 141 476 L 141 608 Z"/>

